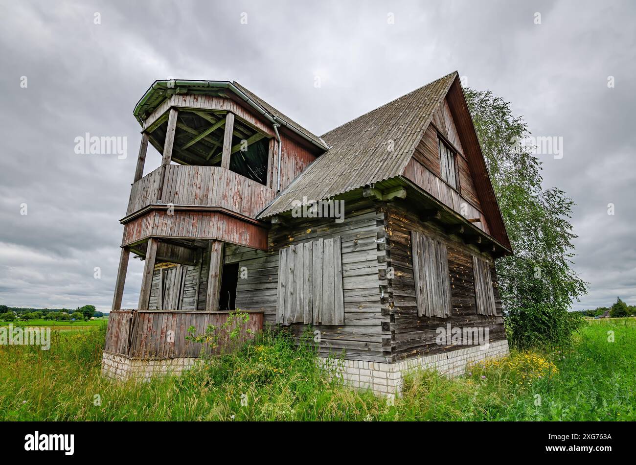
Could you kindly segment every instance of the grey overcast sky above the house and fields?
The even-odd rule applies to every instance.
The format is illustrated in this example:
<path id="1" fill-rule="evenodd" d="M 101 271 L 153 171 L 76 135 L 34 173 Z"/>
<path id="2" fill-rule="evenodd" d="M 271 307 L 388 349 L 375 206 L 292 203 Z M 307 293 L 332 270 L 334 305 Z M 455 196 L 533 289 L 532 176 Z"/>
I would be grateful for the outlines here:
<path id="1" fill-rule="evenodd" d="M 636 304 L 635 13 L 618 1 L 0 0 L 0 303 L 110 309 L 132 110 L 154 80 L 237 80 L 323 134 L 457 70 L 533 134 L 563 137 L 563 158 L 541 160 L 546 187 L 577 204 L 574 268 L 590 292 L 576 308 Z M 127 158 L 76 154 L 86 132 L 127 137 Z M 141 270 L 131 260 L 125 308 Z"/>

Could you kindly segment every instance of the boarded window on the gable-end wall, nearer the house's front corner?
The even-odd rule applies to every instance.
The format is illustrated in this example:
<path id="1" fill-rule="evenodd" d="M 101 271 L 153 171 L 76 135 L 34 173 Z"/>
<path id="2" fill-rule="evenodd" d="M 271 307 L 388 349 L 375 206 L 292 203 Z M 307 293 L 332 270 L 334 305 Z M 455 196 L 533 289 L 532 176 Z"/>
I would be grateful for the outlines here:
<path id="1" fill-rule="evenodd" d="M 413 277 L 418 316 L 450 316 L 450 274 L 448 253 L 440 240 L 413 231 Z"/>

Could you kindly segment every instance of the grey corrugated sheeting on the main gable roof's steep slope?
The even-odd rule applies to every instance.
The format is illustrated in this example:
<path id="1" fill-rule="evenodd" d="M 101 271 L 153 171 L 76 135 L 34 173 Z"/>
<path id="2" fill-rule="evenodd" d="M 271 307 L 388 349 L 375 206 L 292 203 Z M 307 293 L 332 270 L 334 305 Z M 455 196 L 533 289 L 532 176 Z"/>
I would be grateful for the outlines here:
<path id="1" fill-rule="evenodd" d="M 259 218 L 288 211 L 294 200 L 303 197 L 321 200 L 399 176 L 455 76 L 457 72 L 432 81 L 322 135 L 331 149 L 289 184 Z"/>

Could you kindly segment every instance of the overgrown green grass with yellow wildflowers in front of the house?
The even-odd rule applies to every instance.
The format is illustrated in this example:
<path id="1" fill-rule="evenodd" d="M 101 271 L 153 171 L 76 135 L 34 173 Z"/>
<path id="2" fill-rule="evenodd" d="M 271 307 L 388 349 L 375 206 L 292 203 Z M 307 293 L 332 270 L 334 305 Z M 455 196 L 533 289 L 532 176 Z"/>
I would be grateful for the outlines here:
<path id="1" fill-rule="evenodd" d="M 0 419 L 636 419 L 634 319 L 595 321 L 570 349 L 513 352 L 462 378 L 417 373 L 394 403 L 330 381 L 311 350 L 284 337 L 264 337 L 182 377 L 110 382 L 99 374 L 100 323 L 52 331 L 48 351 L 0 346 Z"/>

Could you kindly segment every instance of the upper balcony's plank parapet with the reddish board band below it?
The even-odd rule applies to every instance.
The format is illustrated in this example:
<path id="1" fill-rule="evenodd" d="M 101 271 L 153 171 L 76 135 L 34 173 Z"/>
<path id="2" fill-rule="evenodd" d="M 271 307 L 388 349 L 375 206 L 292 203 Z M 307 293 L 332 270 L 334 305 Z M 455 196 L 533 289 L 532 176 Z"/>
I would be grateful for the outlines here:
<path id="1" fill-rule="evenodd" d="M 168 165 L 162 171 L 132 184 L 121 219 L 122 246 L 167 237 L 266 248 L 266 228 L 254 218 L 275 197 L 274 190 L 223 167 Z"/>

